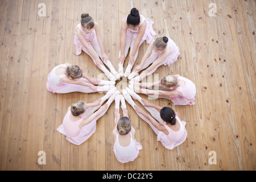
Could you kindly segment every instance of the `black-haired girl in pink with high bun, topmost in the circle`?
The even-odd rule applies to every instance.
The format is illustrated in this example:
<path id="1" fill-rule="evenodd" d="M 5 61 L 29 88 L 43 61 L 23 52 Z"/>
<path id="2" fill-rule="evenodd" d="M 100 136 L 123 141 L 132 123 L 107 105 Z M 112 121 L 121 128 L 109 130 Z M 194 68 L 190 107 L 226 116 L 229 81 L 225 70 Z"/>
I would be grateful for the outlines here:
<path id="1" fill-rule="evenodd" d="M 129 64 L 126 68 L 124 76 L 127 77 L 131 73 L 131 68 L 138 56 L 139 46 L 147 41 L 150 44 L 155 38 L 155 32 L 152 29 L 154 22 L 143 15 L 135 8 L 131 9 L 130 14 L 123 19 L 121 24 L 120 52 L 118 59 L 118 72 L 123 76 L 123 62 L 130 48 Z"/>

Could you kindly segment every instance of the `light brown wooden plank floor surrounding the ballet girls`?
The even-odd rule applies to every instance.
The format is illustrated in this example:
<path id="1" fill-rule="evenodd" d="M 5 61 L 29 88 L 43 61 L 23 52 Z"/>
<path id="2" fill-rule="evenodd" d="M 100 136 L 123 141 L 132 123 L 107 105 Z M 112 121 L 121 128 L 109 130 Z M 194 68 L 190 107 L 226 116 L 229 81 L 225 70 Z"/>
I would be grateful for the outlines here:
<path id="1" fill-rule="evenodd" d="M 46 5 L 45 17 L 38 16 L 39 3 Z M 53 94 L 46 81 L 62 63 L 77 64 L 91 77 L 102 73 L 84 52 L 76 56 L 73 36 L 82 13 L 100 24 L 117 68 L 121 21 L 131 7 L 154 20 L 157 36 L 170 37 L 180 48 L 176 63 L 158 68 L 155 77 L 187 77 L 197 93 L 195 106 L 151 100 L 172 107 L 187 122 L 187 139 L 174 150 L 164 148 L 128 106 L 143 150 L 134 162 L 122 164 L 113 152 L 114 103 L 98 120 L 96 133 L 75 146 L 56 131 L 67 107 L 104 93 Z M 0 12 L 1 170 L 256 169 L 255 0 L 0 0 Z M 147 46 L 139 49 L 136 64 Z M 38 164 L 39 151 L 46 152 L 46 164 Z M 217 164 L 209 163 L 210 151 Z"/>

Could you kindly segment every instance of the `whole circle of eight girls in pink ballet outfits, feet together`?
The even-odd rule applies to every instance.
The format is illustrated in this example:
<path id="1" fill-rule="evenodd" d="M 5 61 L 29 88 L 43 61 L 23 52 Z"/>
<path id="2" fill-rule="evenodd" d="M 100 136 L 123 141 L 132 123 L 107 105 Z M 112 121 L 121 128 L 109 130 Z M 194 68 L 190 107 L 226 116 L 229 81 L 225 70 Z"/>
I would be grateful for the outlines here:
<path id="1" fill-rule="evenodd" d="M 164 147 L 172 150 L 184 142 L 187 131 L 185 122 L 181 121 L 179 115 L 170 107 L 152 104 L 137 94 L 166 98 L 174 102 L 174 105 L 195 105 L 195 84 L 185 77 L 168 75 L 156 82 L 140 83 L 161 65 L 170 67 L 180 54 L 179 48 L 170 38 L 164 36 L 155 39 L 153 23 L 152 20 L 140 15 L 135 8 L 131 9 L 130 14 L 122 20 L 118 71 L 116 71 L 105 53 L 98 23 L 94 22 L 89 14 L 81 15 L 81 23 L 77 25 L 74 37 L 76 54 L 80 55 L 82 51 L 87 53 L 110 81 L 90 78 L 81 71 L 79 66 L 68 63 L 57 65 L 48 74 L 47 89 L 53 93 L 107 92 L 104 97 L 93 103 L 77 101 L 68 107 L 63 123 L 57 128 L 57 131 L 65 135 L 69 142 L 77 145 L 85 142 L 95 133 L 98 118 L 102 117 L 115 101 L 114 154 L 121 163 L 136 159 L 142 146 L 135 139 L 135 129 L 131 125 L 125 100 L 139 117 L 151 126 L 157 135 L 157 140 Z M 141 63 L 131 72 L 138 56 L 139 47 L 145 40 L 150 45 Z M 123 63 L 129 48 L 129 64 L 124 72 Z M 143 72 L 139 75 L 142 70 Z M 123 89 L 122 93 L 119 93 L 115 88 L 115 81 L 122 76 L 130 80 L 129 88 Z M 136 105 L 134 100 L 138 100 L 150 114 Z M 106 104 L 102 105 L 105 101 L 107 101 Z M 122 117 L 119 110 L 120 102 Z"/>

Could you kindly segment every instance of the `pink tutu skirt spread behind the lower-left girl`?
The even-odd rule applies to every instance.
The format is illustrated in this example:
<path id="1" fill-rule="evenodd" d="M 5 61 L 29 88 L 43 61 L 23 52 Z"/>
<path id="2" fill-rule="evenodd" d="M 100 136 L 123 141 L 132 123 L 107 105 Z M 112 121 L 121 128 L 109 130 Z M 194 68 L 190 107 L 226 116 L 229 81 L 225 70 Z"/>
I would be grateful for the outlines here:
<path id="1" fill-rule="evenodd" d="M 77 137 L 70 137 L 64 130 L 63 124 L 61 124 L 58 128 L 57 131 L 59 133 L 63 134 L 66 136 L 66 139 L 76 145 L 80 145 L 81 143 L 85 142 L 92 134 L 95 133 L 96 131 L 96 121 L 90 122 L 88 125 L 85 125 L 84 127 L 81 128 L 80 133 Z"/>

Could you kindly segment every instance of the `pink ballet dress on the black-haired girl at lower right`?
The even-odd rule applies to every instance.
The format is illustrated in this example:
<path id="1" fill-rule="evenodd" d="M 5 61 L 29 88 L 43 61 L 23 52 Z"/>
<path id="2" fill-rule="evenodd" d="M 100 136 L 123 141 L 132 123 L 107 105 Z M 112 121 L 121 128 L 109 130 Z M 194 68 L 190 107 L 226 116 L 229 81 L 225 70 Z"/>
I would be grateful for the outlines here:
<path id="1" fill-rule="evenodd" d="M 167 126 L 166 123 L 164 123 L 164 127 L 166 127 L 169 134 L 166 135 L 162 131 L 159 131 L 158 133 L 158 141 L 160 141 L 163 146 L 169 150 L 172 150 L 174 149 L 174 147 L 179 146 L 187 138 L 187 130 L 185 128 L 186 122 L 180 121 L 180 118 L 177 116 L 175 118 L 176 121 L 180 123 L 179 131 L 173 131 L 172 129 L 170 129 L 170 127 Z"/>

